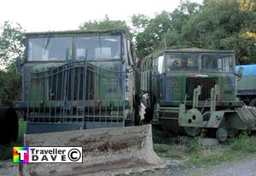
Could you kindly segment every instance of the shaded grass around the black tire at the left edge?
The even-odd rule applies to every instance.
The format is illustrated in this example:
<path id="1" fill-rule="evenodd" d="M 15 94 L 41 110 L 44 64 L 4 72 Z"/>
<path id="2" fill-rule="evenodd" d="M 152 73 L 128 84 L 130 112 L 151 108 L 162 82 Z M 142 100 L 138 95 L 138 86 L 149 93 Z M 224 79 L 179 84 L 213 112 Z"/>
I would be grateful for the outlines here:
<path id="1" fill-rule="evenodd" d="M 14 146 L 23 146 L 23 134 L 26 132 L 26 122 L 19 118 L 19 134 L 15 143 L 0 145 L 0 160 L 7 160 L 13 157 Z"/>

